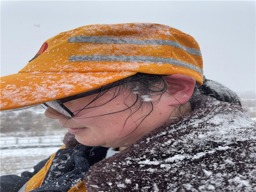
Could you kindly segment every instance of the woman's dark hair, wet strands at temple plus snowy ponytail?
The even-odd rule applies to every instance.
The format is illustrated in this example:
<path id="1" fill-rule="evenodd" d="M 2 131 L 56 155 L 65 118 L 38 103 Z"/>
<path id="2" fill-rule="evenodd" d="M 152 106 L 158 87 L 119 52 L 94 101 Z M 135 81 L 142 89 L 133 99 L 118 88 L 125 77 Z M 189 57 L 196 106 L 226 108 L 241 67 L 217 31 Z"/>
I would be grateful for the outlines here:
<path id="1" fill-rule="evenodd" d="M 115 99 L 118 95 L 126 92 L 126 93 L 128 93 L 127 98 L 131 94 L 136 95 L 134 103 L 131 106 L 126 105 L 127 108 L 124 109 L 124 110 L 130 110 L 131 111 L 131 113 L 127 117 L 127 119 L 129 117 L 131 117 L 135 112 L 140 110 L 140 108 L 142 108 L 142 107 L 147 107 L 147 108 L 150 107 L 151 108 L 151 111 L 149 113 L 140 117 L 137 120 L 133 120 L 134 123 L 138 127 L 140 125 L 140 123 L 153 111 L 154 104 L 156 104 L 161 99 L 161 95 L 165 92 L 168 93 L 168 91 L 167 91 L 168 85 L 164 81 L 165 76 L 166 75 L 137 73 L 133 76 L 121 79 L 121 80 L 118 81 L 119 83 L 123 83 L 127 80 L 130 80 L 130 79 L 134 79 L 134 81 L 131 81 L 129 83 L 124 83 L 124 84 L 121 84 L 119 86 L 116 86 L 115 88 L 112 88 L 112 91 L 114 89 L 114 91 L 113 91 L 114 96 L 110 100 L 108 100 L 107 102 L 101 103 L 100 105 L 97 105 L 97 106 L 88 107 L 89 104 L 91 104 L 92 102 L 94 102 L 95 100 L 97 100 L 98 98 L 103 96 L 104 94 L 106 94 L 109 90 L 106 90 L 104 92 L 100 92 L 100 93 L 96 94 L 93 97 L 93 100 L 88 105 L 86 105 L 84 108 L 80 109 L 79 111 L 77 111 L 74 114 L 75 114 L 76 118 L 79 118 L 79 113 L 81 111 L 83 111 L 84 109 L 98 108 L 98 107 L 110 102 L 111 100 Z M 234 93 L 233 91 L 231 91 L 230 89 L 228 89 L 224 85 L 219 84 L 219 83 L 217 83 L 215 81 L 212 81 L 212 80 L 205 79 L 205 77 L 204 77 L 204 84 L 199 86 L 199 87 L 198 87 L 198 84 L 195 85 L 194 92 L 193 92 L 191 98 L 187 102 L 187 103 L 190 104 L 192 110 L 194 109 L 196 101 L 197 101 L 198 96 L 200 94 L 209 95 L 209 96 L 211 96 L 211 97 L 213 97 L 217 100 L 225 101 L 225 102 L 229 102 L 229 103 L 235 103 L 235 104 L 241 106 L 240 99 L 236 95 L 236 93 Z M 154 96 L 160 96 L 160 97 L 158 98 L 158 100 L 152 102 L 151 98 L 154 97 Z M 124 103 L 126 104 L 125 101 L 126 100 L 124 100 Z M 176 106 L 176 109 L 178 109 L 178 111 L 180 111 L 181 108 L 187 103 Z M 124 111 L 124 110 L 122 110 L 122 111 Z M 113 114 L 113 113 L 118 113 L 118 112 L 121 112 L 121 111 L 116 111 L 116 112 L 112 112 L 112 113 L 108 113 L 108 114 Z M 104 114 L 104 115 L 108 115 L 108 114 Z M 99 115 L 99 116 L 102 116 L 102 115 Z M 87 117 L 87 118 L 90 118 L 90 117 Z M 126 119 L 126 121 L 127 121 L 127 119 Z M 126 121 L 125 121 L 125 123 L 126 123 Z M 124 123 L 124 126 L 125 126 L 125 123 Z M 137 129 L 137 127 L 136 127 L 136 129 Z"/>

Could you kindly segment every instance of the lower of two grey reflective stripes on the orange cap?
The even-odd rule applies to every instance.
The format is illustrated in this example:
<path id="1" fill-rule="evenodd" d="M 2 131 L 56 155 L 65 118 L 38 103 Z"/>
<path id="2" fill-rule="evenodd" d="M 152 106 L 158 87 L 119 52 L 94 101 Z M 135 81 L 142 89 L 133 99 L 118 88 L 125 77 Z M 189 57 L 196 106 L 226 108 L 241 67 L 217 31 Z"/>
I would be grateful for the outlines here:
<path id="1" fill-rule="evenodd" d="M 193 69 L 203 75 L 203 70 L 192 64 L 166 57 L 148 57 L 132 55 L 70 55 L 69 61 L 130 61 L 148 63 L 169 63 L 172 65 Z"/>

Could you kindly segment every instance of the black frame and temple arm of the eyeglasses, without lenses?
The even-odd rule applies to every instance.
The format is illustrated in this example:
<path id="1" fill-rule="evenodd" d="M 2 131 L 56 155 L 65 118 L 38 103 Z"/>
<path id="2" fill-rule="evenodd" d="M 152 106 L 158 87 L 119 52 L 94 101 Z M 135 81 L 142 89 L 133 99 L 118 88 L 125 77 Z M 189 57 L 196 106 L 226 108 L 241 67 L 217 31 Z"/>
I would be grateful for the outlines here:
<path id="1" fill-rule="evenodd" d="M 129 80 L 127 80 L 127 81 L 118 82 L 118 83 L 116 83 L 116 84 L 108 85 L 108 86 L 106 86 L 106 87 L 103 87 L 103 86 L 102 86 L 102 87 L 100 87 L 99 89 L 95 89 L 95 90 L 92 90 L 92 91 L 79 93 L 79 94 L 77 94 L 77 95 L 72 95 L 72 96 L 69 96 L 69 97 L 65 97 L 65 98 L 57 99 L 57 100 L 53 100 L 53 101 L 55 101 L 56 103 L 58 103 L 58 104 L 60 105 L 60 107 L 61 107 L 63 110 L 65 110 L 65 111 L 70 115 L 70 117 L 68 117 L 68 116 L 66 116 L 66 117 L 72 118 L 72 117 L 75 116 L 74 113 L 73 113 L 72 111 L 70 111 L 65 105 L 63 105 L 63 103 L 66 103 L 66 102 L 72 101 L 72 100 L 76 100 L 76 99 L 80 99 L 80 98 L 83 98 L 83 97 L 86 97 L 86 96 L 89 96 L 89 95 L 93 95 L 93 94 L 96 94 L 96 93 L 101 93 L 102 91 L 106 91 L 106 90 L 111 89 L 111 88 L 113 88 L 113 87 L 116 87 L 116 86 L 118 86 L 118 85 L 126 84 L 126 83 L 129 83 L 129 82 L 135 81 L 135 80 L 138 80 L 138 79 L 136 79 L 136 78 L 129 79 Z M 48 101 L 48 102 L 50 102 L 50 101 Z M 42 104 L 44 104 L 46 107 L 50 107 L 50 106 L 48 106 L 46 103 L 47 103 L 47 102 L 42 103 Z M 50 108 L 51 108 L 51 107 L 50 107 Z M 53 108 L 51 108 L 51 109 L 53 109 Z M 55 109 L 53 109 L 53 110 L 56 111 Z M 58 111 L 56 111 L 56 112 L 59 113 Z M 63 115 L 63 114 L 61 114 L 61 113 L 59 113 L 59 114 L 60 114 L 60 115 Z"/>

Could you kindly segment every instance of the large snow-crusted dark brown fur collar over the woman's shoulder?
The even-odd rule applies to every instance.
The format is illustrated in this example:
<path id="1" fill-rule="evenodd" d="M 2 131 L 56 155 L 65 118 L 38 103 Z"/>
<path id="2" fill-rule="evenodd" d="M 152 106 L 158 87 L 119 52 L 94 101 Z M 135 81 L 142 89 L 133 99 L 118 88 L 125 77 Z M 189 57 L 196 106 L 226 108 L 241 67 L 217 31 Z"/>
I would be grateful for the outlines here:
<path id="1" fill-rule="evenodd" d="M 236 104 L 202 95 L 195 110 L 94 164 L 91 191 L 256 191 L 256 125 Z"/>

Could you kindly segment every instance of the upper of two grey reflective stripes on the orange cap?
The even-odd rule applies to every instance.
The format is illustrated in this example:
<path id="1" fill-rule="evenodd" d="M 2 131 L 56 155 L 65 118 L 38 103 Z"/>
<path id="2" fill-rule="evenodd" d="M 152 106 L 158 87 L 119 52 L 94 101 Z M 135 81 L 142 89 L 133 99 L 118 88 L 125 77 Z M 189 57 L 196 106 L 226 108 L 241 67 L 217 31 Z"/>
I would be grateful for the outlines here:
<path id="1" fill-rule="evenodd" d="M 169 45 L 176 47 L 190 53 L 192 55 L 202 56 L 201 51 L 198 49 L 193 49 L 185 47 L 179 44 L 177 41 L 171 40 L 141 40 L 141 39 L 114 39 L 108 37 L 100 36 L 74 36 L 68 38 L 68 43 L 109 43 L 109 44 L 140 44 L 140 45 Z"/>

